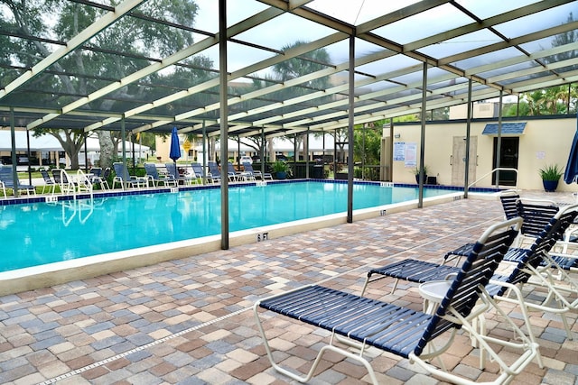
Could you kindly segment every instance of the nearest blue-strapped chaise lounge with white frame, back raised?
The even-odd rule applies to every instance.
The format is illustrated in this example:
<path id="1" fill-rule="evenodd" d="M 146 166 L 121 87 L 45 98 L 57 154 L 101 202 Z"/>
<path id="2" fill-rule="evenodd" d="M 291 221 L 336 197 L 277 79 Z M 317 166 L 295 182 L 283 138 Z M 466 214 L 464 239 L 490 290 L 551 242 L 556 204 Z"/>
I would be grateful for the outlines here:
<path id="1" fill-rule="evenodd" d="M 445 371 L 429 362 L 452 347 L 456 331 L 462 328 L 498 363 L 499 372 L 490 383 L 508 383 L 536 357 L 538 346 L 496 306 L 485 286 L 514 241 L 520 225 L 521 219 L 517 218 L 489 227 L 453 278 L 433 315 L 319 285 L 305 286 L 256 301 L 253 308 L 256 323 L 271 365 L 276 371 L 305 382 L 311 380 L 323 353 L 331 351 L 363 364 L 373 383 L 377 384 L 375 372 L 364 356 L 366 349 L 374 346 L 417 363 L 436 378 L 473 384 L 474 381 L 458 372 Z M 331 340 L 321 348 L 308 373 L 296 373 L 275 362 L 259 316 L 261 308 L 331 332 Z M 504 322 L 511 326 L 516 338 L 502 340 L 476 331 L 471 320 L 492 308 L 504 317 Z M 435 345 L 438 341 L 440 346 Z M 499 349 L 494 350 L 497 346 Z M 352 348 L 357 352 L 351 352 Z M 499 355 L 499 352 L 508 351 L 511 357 L 515 350 L 520 353 L 509 365 Z"/>

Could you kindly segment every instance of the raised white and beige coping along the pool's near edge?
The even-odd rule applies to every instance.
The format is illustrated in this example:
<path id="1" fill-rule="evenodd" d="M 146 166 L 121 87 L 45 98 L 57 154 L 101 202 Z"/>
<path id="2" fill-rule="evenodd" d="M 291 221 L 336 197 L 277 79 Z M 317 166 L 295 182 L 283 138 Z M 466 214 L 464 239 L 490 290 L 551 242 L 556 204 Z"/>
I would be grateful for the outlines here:
<path id="1" fill-rule="evenodd" d="M 471 193 L 479 199 L 497 199 L 496 194 Z M 459 191 L 437 197 L 423 199 L 423 206 L 433 206 L 463 198 Z M 353 211 L 353 221 L 370 219 L 378 216 L 418 208 L 418 200 L 385 206 L 375 206 Z M 323 215 L 309 219 L 287 222 L 279 225 L 267 225 L 229 234 L 228 245 L 235 247 L 248 243 L 268 243 L 275 238 L 286 235 L 319 230 L 334 225 L 347 223 L 347 213 Z M 266 239 L 263 235 L 266 234 Z M 163 261 L 179 260 L 193 257 L 205 252 L 216 252 L 221 249 L 221 236 L 206 237 L 161 243 L 121 252 L 109 252 L 70 261 L 58 261 L 42 266 L 33 266 L 17 270 L 0 272 L 0 296 L 19 292 L 48 288 L 74 280 L 86 280 L 123 270 L 137 269 Z"/>

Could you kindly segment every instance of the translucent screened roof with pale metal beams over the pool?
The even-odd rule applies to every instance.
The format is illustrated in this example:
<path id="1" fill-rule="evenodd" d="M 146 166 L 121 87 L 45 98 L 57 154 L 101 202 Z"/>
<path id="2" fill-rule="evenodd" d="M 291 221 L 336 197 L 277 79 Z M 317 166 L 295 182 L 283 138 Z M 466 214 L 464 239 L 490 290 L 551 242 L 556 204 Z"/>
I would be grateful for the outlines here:
<path id="1" fill-rule="evenodd" d="M 369 113 L 378 119 L 419 111 L 424 61 L 429 65 L 428 106 L 435 108 L 463 103 L 470 78 L 474 100 L 495 96 L 510 85 L 524 91 L 576 78 L 577 47 L 570 41 L 575 40 L 572 34 L 578 23 L 568 23 L 568 16 L 571 11 L 578 14 L 577 1 L 558 6 L 554 5 L 564 0 L 303 3 L 284 13 L 296 3 L 228 2 L 231 122 L 275 130 L 281 124 L 347 124 L 350 40 L 346 32 L 350 31 L 358 33 L 354 113 L 361 119 L 369 119 Z M 62 4 L 79 6 L 83 17 L 100 16 L 109 9 L 104 0 Z M 219 31 L 218 2 L 195 1 L 194 19 L 174 17 L 170 9 L 154 4 L 144 2 L 108 28 L 91 27 L 90 39 L 54 64 L 35 69 L 36 77 L 29 77 L 26 70 L 61 50 L 64 39 L 59 41 L 59 33 L 51 30 L 55 23 L 45 23 L 47 31 L 31 29 L 31 36 L 14 33 L 16 29 L 5 27 L 10 19 L 3 12 L 0 37 L 12 35 L 14 47 L 42 46 L 43 50 L 27 56 L 19 56 L 16 50 L 0 54 L 0 118 L 5 119 L 6 106 L 11 105 L 19 122 L 31 127 L 61 124 L 116 130 L 125 116 L 127 129 L 166 132 L 173 124 L 197 129 L 207 119 L 213 124 L 209 131 L 218 131 L 219 46 L 214 36 Z M 191 2 L 179 3 L 186 5 Z M 541 11 L 547 6 L 553 8 Z M 61 9 L 52 10 L 50 17 L 58 20 Z M 510 19 L 516 20 L 502 23 Z M 352 25 L 358 28 L 353 30 Z M 131 27 L 124 30 L 126 35 L 116 33 L 123 26 Z M 568 39 L 559 47 L 562 33 Z M 124 45 L 122 38 L 133 43 Z M 24 41 L 29 43 L 23 45 Z M 295 41 L 309 45 L 282 52 Z M 312 58 L 309 54 L 316 50 L 327 56 Z M 14 89 L 5 93 L 7 86 Z M 24 107 L 39 112 L 17 111 L 25 111 Z M 59 110 L 65 114 L 47 115 Z M 247 127 L 241 131 L 253 130 Z"/>

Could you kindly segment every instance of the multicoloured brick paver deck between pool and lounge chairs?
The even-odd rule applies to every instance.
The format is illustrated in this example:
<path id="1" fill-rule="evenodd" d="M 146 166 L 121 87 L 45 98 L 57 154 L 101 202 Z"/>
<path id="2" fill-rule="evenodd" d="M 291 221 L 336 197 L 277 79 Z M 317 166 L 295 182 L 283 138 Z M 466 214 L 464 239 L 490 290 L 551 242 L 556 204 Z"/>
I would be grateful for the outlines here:
<path id="1" fill-rule="evenodd" d="M 501 216 L 498 201 L 462 199 L 0 297 L 0 383 L 293 383 L 266 359 L 251 310 L 256 298 L 322 281 L 359 293 L 369 268 L 406 257 L 440 261 Z M 383 296 L 391 283 L 376 282 L 368 295 Z M 415 284 L 399 288 L 384 299 L 421 308 Z M 519 317 L 515 308 L 511 316 Z M 507 333 L 488 318 L 490 332 Z M 577 383 L 576 314 L 573 341 L 556 316 L 534 312 L 532 320 L 545 369 L 532 363 L 514 383 Z M 266 330 L 275 337 L 275 355 L 301 371 L 327 340 L 327 333 L 281 316 L 268 319 Z M 441 383 L 407 360 L 369 354 L 383 383 Z M 487 380 L 496 368 L 489 363 L 480 371 L 477 351 L 462 335 L 445 361 L 473 380 Z M 312 384 L 368 381 L 363 367 L 336 354 L 327 354 L 318 371 Z"/>

